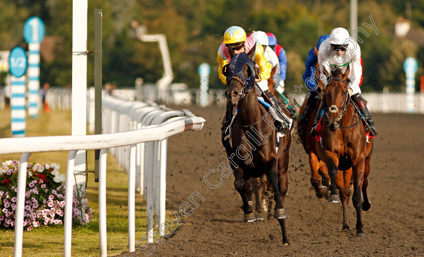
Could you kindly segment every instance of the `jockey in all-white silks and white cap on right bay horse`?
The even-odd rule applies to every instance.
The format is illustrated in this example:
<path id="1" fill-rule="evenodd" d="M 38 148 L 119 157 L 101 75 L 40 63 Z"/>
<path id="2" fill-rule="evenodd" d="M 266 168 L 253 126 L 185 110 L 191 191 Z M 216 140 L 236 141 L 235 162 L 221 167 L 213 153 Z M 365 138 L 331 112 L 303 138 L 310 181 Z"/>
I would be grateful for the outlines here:
<path id="1" fill-rule="evenodd" d="M 330 72 L 331 66 L 337 66 L 346 70 L 349 65 L 350 72 L 348 78 L 350 79 L 348 85 L 348 92 L 351 99 L 359 107 L 359 111 L 365 117 L 368 127 L 365 129 L 370 134 L 376 136 L 377 130 L 368 109 L 366 108 L 365 101 L 360 95 L 361 89 L 359 88 L 360 77 L 362 68 L 360 64 L 361 50 L 359 45 L 349 36 L 349 32 L 344 28 L 335 28 L 331 31 L 330 37 L 321 43 L 320 50 L 318 51 L 318 64 L 320 65 L 321 74 L 320 80 L 324 85 L 327 85 L 327 77 L 324 70 Z M 315 117 L 315 123 L 312 125 L 310 136 L 316 135 L 316 126 L 320 122 L 321 112 L 323 110 L 324 101 L 321 102 L 320 108 Z"/>

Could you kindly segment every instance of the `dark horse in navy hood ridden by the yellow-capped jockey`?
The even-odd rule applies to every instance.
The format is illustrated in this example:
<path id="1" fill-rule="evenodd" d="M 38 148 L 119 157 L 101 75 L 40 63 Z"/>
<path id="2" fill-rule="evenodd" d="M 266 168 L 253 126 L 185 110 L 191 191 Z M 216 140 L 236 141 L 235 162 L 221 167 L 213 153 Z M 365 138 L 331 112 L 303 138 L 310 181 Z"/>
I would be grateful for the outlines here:
<path id="1" fill-rule="evenodd" d="M 237 107 L 238 112 L 231 132 L 231 144 L 230 140 L 223 139 L 222 142 L 235 177 L 234 186 L 243 201 L 243 221 L 255 220 L 253 205 L 246 197 L 246 181 L 265 174 L 274 191 L 274 218 L 280 223 L 283 244 L 288 244 L 285 195 L 291 134 L 280 138 L 277 152 L 274 118 L 258 104 L 254 88 L 253 54 L 254 48 L 248 54 L 237 55 L 230 48 L 231 61 L 224 67 L 224 75 L 227 76 L 225 94 L 227 103 Z M 286 115 L 289 115 L 288 112 Z"/>

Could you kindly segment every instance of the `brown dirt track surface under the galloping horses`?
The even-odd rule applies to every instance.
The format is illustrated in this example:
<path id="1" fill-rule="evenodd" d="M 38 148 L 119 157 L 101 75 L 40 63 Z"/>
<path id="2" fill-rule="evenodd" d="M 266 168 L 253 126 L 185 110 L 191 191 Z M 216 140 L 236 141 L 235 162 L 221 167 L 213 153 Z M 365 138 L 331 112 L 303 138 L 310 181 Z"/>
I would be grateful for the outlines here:
<path id="1" fill-rule="evenodd" d="M 290 244 L 282 245 L 276 220 L 243 223 L 240 195 L 234 176 L 217 189 L 203 176 L 228 163 L 220 140 L 218 107 L 187 108 L 206 119 L 201 131 L 169 138 L 167 209 L 178 211 L 194 191 L 205 201 L 183 225 L 150 256 L 424 256 L 424 116 L 375 114 L 375 140 L 368 197 L 371 208 L 362 211 L 366 237 L 355 237 L 356 214 L 350 199 L 349 232 L 342 231 L 340 203 L 318 199 L 309 182 L 309 166 L 297 134 L 290 148 L 286 219 Z M 219 172 L 209 181 L 219 181 Z M 199 200 L 197 200 L 199 201 Z M 137 249 L 137 247 L 136 247 Z M 120 256 L 145 256 L 148 250 Z"/>

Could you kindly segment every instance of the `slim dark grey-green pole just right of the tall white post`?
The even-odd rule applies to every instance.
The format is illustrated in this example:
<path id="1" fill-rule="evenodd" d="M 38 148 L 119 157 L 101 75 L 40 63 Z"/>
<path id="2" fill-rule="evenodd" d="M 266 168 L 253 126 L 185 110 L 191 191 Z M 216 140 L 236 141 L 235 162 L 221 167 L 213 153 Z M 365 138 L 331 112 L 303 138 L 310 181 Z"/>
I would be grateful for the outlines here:
<path id="1" fill-rule="evenodd" d="M 102 10 L 94 9 L 94 134 L 101 134 L 101 38 Z M 98 159 L 100 150 L 94 151 L 94 181 L 98 182 Z"/>

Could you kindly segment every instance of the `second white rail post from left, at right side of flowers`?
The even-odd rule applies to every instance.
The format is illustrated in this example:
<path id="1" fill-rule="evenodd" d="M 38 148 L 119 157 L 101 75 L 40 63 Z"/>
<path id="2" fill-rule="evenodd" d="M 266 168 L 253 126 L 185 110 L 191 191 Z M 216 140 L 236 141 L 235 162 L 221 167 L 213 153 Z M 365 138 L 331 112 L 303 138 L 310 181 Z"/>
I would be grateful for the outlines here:
<path id="1" fill-rule="evenodd" d="M 72 198 L 74 189 L 74 164 L 77 151 L 68 153 L 68 162 L 66 164 L 66 185 L 65 185 L 65 220 L 64 220 L 64 257 L 71 257 L 72 245 Z"/>

